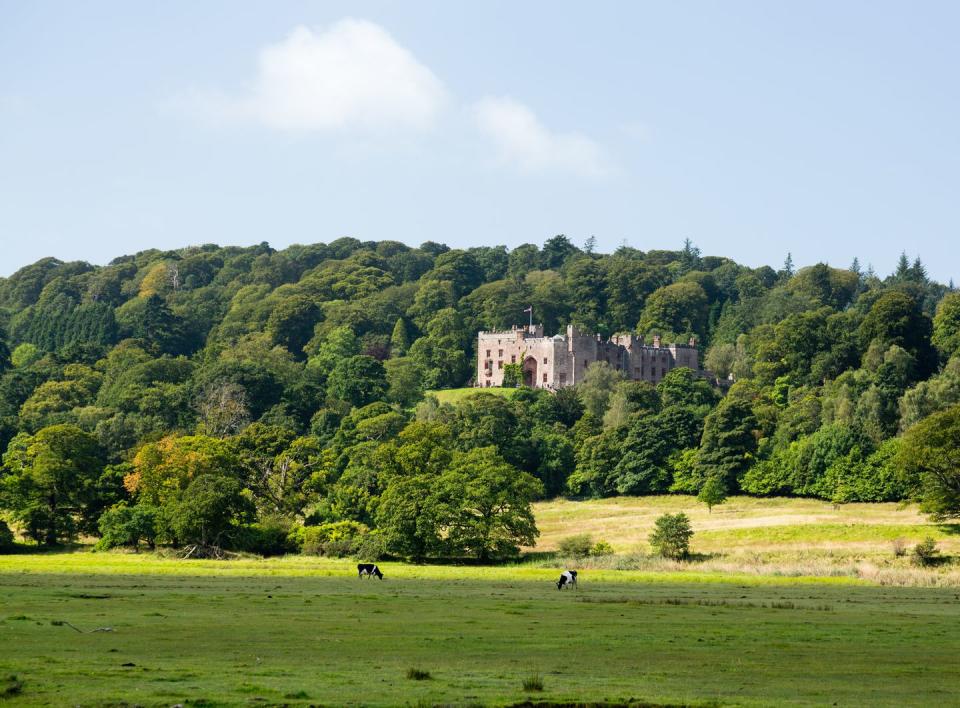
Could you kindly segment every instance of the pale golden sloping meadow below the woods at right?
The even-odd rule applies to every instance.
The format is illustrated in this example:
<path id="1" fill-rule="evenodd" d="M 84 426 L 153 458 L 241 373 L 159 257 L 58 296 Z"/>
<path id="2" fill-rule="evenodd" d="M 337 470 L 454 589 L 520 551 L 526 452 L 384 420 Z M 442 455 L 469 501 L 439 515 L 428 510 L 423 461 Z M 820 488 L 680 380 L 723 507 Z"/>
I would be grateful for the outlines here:
<path id="1" fill-rule="evenodd" d="M 647 537 L 664 513 L 685 512 L 700 562 L 652 559 Z M 555 500 L 535 506 L 538 551 L 587 533 L 613 546 L 613 558 L 588 566 L 696 573 L 849 576 L 891 585 L 960 586 L 960 565 L 918 569 L 910 549 L 934 538 L 946 559 L 960 557 L 960 526 L 936 524 L 913 504 L 844 504 L 816 499 L 731 497 L 711 511 L 689 496 Z M 897 556 L 895 546 L 906 551 Z"/>

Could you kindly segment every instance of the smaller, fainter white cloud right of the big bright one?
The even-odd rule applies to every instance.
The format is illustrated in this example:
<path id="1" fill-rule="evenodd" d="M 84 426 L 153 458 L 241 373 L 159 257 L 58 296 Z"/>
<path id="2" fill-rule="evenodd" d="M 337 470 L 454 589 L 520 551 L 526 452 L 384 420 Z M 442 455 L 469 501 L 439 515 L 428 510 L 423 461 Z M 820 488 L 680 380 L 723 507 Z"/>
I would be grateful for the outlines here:
<path id="1" fill-rule="evenodd" d="M 530 108 L 512 98 L 488 96 L 474 106 L 474 115 L 477 126 L 497 146 L 500 159 L 523 172 L 600 177 L 610 171 L 593 140 L 550 131 Z"/>

